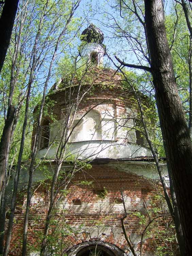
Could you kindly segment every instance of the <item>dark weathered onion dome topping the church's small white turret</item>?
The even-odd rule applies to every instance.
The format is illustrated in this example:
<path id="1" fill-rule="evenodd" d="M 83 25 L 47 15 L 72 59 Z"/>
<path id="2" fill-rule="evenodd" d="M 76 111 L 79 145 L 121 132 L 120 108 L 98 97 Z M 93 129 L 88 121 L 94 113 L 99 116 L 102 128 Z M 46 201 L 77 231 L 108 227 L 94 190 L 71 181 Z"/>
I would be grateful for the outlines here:
<path id="1" fill-rule="evenodd" d="M 87 41 L 87 43 L 95 42 L 102 44 L 104 40 L 104 34 L 99 28 L 91 24 L 88 28 L 83 30 L 81 34 L 81 40 Z"/>

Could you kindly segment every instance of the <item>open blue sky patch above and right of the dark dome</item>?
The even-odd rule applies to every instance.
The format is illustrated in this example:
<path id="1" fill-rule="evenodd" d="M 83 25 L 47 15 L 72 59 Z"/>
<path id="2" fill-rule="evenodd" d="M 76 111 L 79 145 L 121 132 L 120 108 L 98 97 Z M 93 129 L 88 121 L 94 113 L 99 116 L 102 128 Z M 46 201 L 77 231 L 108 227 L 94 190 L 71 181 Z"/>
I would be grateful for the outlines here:
<path id="1" fill-rule="evenodd" d="M 130 49 L 127 42 L 125 42 L 125 40 L 117 40 L 113 38 L 114 29 L 109 26 L 109 24 L 113 23 L 113 17 L 118 20 L 119 24 L 122 26 L 123 23 L 126 22 L 120 17 L 119 11 L 115 11 L 115 8 L 111 7 L 115 6 L 117 2 L 118 1 L 114 0 L 82 0 L 80 8 L 76 14 L 77 16 L 82 16 L 82 19 L 85 19 L 81 31 L 88 27 L 90 23 L 93 23 L 103 31 L 105 35 L 103 43 L 106 45 L 109 55 L 113 56 L 114 53 L 118 53 L 124 60 L 129 61 L 130 63 L 138 63 L 135 54 L 132 54 L 131 51 L 129 51 Z M 172 1 L 165 1 L 164 6 L 166 6 L 166 13 L 170 12 L 171 4 Z"/>

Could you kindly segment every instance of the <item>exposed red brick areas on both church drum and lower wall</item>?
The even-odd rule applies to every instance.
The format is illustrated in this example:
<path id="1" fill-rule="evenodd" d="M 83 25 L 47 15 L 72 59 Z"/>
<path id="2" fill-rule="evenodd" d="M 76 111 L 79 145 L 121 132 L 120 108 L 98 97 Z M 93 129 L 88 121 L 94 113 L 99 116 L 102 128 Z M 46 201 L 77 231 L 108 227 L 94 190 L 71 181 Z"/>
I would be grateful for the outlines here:
<path id="1" fill-rule="evenodd" d="M 80 102 L 77 114 L 82 115 L 90 108 L 105 101 L 96 106 L 94 110 L 98 111 L 101 115 L 107 111 L 112 114 L 114 113 L 117 122 L 120 122 L 119 120 L 124 118 L 125 115 L 126 118 L 130 118 L 130 122 L 133 122 L 133 118 L 137 116 L 137 106 L 135 106 L 131 92 L 121 88 L 121 76 L 114 73 L 114 70 L 102 69 L 96 70 L 94 74 L 90 73 L 92 84 L 90 85 L 90 81 L 87 83 L 85 79 L 80 95 L 90 88 L 91 90 Z M 62 88 L 64 82 L 62 81 L 58 90 L 54 90 L 53 86 L 52 93 L 46 98 L 46 101 L 53 100 L 54 106 L 49 111 L 53 113 L 57 120 L 62 120 L 65 116 L 69 94 L 72 102 L 75 102 L 78 91 L 77 80 L 75 80 L 75 85 L 71 87 L 71 90 L 69 88 Z M 121 96 L 118 96 L 119 94 Z M 147 101 L 147 98 L 142 95 L 141 98 L 145 102 Z M 130 108 L 130 111 L 127 112 L 126 108 Z M 35 129 L 33 134 L 34 132 Z M 134 134 L 129 139 L 122 132 L 117 133 L 116 140 L 135 143 L 135 132 L 134 130 L 131 132 Z M 81 181 L 92 182 L 92 184 L 90 186 L 80 185 Z M 60 183 L 58 186 L 62 188 L 63 185 Z M 107 193 L 105 193 L 105 189 Z M 127 245 L 121 228 L 120 218 L 124 215 L 124 208 L 119 190 L 122 190 L 124 193 L 125 205 L 128 211 L 128 217 L 125 219 L 127 234 L 135 249 L 139 250 L 141 234 L 145 225 L 141 224 L 141 219 L 135 214 L 141 212 L 146 215 L 144 202 L 149 210 L 152 208 L 151 199 L 154 196 L 154 189 L 146 179 L 141 179 L 138 175 L 131 172 L 123 171 L 118 162 L 111 166 L 103 165 L 102 163 L 98 165 L 93 164 L 90 170 L 76 172 L 68 187 L 68 195 L 65 198 L 60 198 L 60 194 L 58 195 L 57 199 L 60 198 L 60 200 L 57 211 L 54 214 L 55 220 L 60 219 L 59 225 L 61 227 L 63 225 L 62 220 L 64 219 L 65 224 L 69 224 L 76 229 L 74 233 L 63 238 L 65 251 L 69 256 L 75 256 L 80 246 L 84 243 L 99 242 L 100 244 L 117 248 L 117 250 L 114 249 L 115 255 L 131 256 L 130 248 Z M 157 189 L 159 189 L 158 185 Z M 104 193 L 104 196 L 102 193 Z M 17 207 L 15 215 L 10 255 L 21 254 L 20 241 L 27 195 L 26 191 L 23 191 L 23 194 L 19 194 L 20 207 Z M 35 247 L 41 243 L 36 232 L 43 232 L 48 206 L 49 192 L 46 187 L 40 186 L 31 199 L 28 253 L 35 251 Z M 161 219 L 156 219 L 155 227 L 161 229 Z M 54 225 L 52 228 L 54 228 Z M 78 228 L 79 230 L 77 230 Z M 31 245 L 34 245 L 34 248 L 30 247 Z M 154 252 L 154 239 L 149 236 L 144 239 L 143 256 L 154 256 Z"/>

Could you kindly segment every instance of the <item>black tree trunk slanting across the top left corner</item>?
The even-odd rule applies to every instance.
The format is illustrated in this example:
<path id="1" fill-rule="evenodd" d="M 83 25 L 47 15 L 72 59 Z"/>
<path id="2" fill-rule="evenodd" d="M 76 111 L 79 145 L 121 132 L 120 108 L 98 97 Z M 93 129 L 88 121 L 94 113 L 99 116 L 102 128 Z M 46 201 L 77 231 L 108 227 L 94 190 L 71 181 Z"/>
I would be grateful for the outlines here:
<path id="1" fill-rule="evenodd" d="M 5 0 L 3 11 L 0 18 L 0 72 L 3 67 L 7 48 L 10 44 L 11 34 L 15 21 L 19 0 Z"/>

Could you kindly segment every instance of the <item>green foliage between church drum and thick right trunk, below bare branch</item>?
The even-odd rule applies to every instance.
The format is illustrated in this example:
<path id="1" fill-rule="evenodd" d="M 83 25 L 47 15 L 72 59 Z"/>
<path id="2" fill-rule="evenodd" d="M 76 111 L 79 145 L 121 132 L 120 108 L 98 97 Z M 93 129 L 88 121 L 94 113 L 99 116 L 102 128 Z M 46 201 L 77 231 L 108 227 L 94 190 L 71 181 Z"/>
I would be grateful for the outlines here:
<path id="1" fill-rule="evenodd" d="M 136 72 L 126 70 L 124 73 L 126 75 L 126 80 L 124 76 L 122 76 L 122 79 L 124 79 L 122 86 L 125 90 L 130 90 L 130 93 L 132 92 L 133 87 L 135 92 L 137 93 L 137 97 L 143 109 L 144 122 L 147 126 L 150 140 L 152 141 L 159 155 L 163 157 L 165 156 L 165 152 L 163 147 L 161 130 L 159 127 L 159 119 L 155 98 L 153 95 L 151 95 L 150 92 L 151 84 L 149 77 L 145 73 L 138 74 Z M 141 114 L 138 109 L 138 102 L 133 92 L 132 97 L 130 97 L 130 101 L 131 109 L 137 112 L 137 116 L 135 115 L 135 118 L 133 118 L 134 129 L 140 131 L 140 137 L 144 139 L 144 145 L 147 146 L 147 141 L 145 140 L 145 130 L 142 124 Z M 124 129 L 127 129 L 129 131 L 132 130 L 133 128 L 131 127 Z"/>

